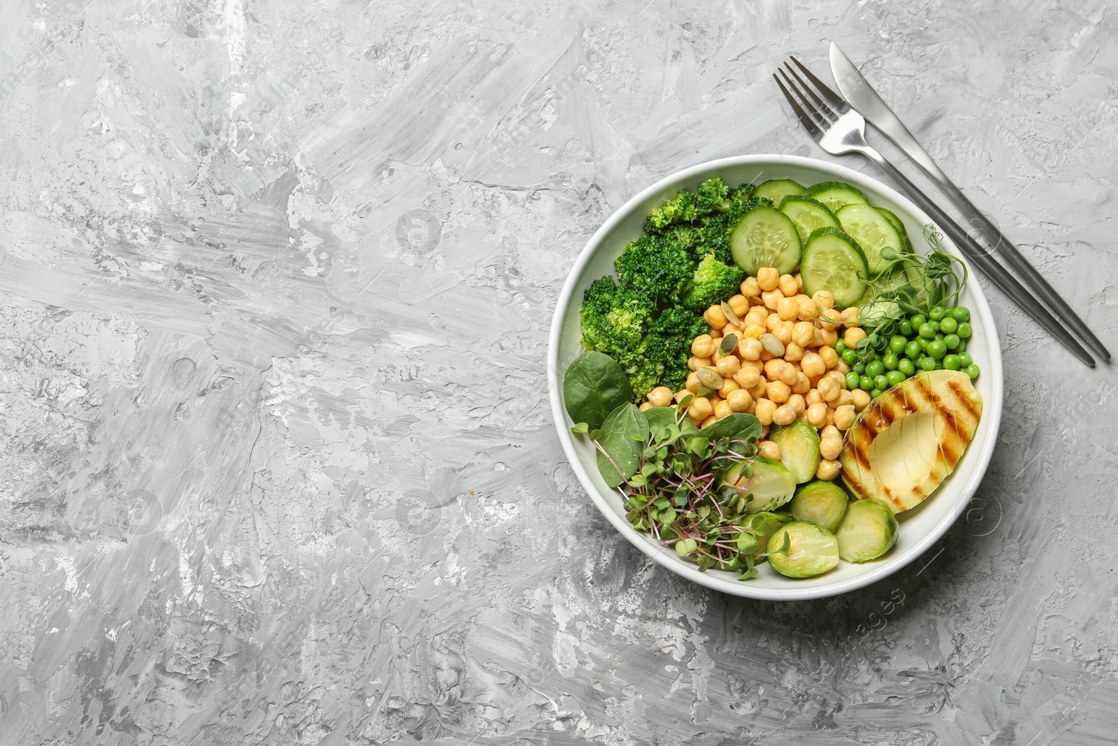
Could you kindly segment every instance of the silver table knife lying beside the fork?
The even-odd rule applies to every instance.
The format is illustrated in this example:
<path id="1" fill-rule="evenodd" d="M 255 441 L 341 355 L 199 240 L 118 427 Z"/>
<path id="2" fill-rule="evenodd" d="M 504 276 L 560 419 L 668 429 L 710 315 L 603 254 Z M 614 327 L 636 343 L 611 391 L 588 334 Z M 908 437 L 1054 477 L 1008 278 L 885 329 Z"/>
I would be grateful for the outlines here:
<path id="1" fill-rule="evenodd" d="M 1029 259 L 1006 238 L 991 220 L 974 206 L 967 196 L 964 195 L 955 183 L 947 178 L 936 162 L 931 160 L 908 128 L 897 117 L 893 110 L 889 107 L 878 92 L 873 89 L 870 82 L 858 72 L 854 63 L 850 60 L 842 49 L 834 41 L 831 43 L 831 74 L 835 77 L 839 92 L 851 107 L 861 114 L 866 122 L 872 124 L 881 134 L 885 135 L 890 142 L 904 151 L 904 154 L 912 159 L 912 162 L 931 179 L 944 195 L 955 202 L 955 206 L 963 213 L 966 221 L 972 228 L 976 228 L 978 234 L 985 239 L 987 246 L 1005 259 L 1011 268 L 1022 275 L 1032 290 L 1050 306 L 1058 310 L 1064 322 L 1087 342 L 1095 352 L 1103 360 L 1110 359 L 1110 351 L 1099 341 L 1099 338 L 1088 328 L 1083 320 L 1079 318 L 1068 302 L 1052 285 L 1036 271 Z"/>

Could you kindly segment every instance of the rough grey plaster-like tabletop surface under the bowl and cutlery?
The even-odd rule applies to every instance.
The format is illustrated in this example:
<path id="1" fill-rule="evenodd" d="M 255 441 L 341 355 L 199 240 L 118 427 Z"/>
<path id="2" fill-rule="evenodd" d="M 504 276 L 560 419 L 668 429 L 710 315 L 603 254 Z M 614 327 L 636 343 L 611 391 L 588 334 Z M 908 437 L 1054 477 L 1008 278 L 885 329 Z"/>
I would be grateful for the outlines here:
<path id="1" fill-rule="evenodd" d="M 1118 377 L 997 293 L 973 510 L 815 603 L 631 548 L 543 370 L 828 39 L 1118 347 L 1112 8 L 688 4 L 0 3 L 0 744 L 1112 743 Z"/>

